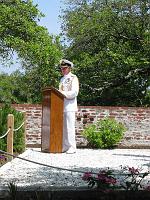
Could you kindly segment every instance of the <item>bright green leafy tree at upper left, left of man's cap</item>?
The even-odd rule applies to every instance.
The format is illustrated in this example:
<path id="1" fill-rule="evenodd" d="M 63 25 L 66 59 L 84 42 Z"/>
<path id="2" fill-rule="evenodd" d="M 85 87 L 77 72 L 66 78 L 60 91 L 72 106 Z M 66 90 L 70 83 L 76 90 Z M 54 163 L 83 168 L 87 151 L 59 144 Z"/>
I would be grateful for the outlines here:
<path id="1" fill-rule="evenodd" d="M 17 53 L 32 102 L 40 101 L 43 87 L 57 85 L 56 64 L 62 56 L 59 37 L 49 35 L 46 28 L 38 25 L 42 16 L 31 0 L 0 3 L 1 63 L 8 63 Z"/>

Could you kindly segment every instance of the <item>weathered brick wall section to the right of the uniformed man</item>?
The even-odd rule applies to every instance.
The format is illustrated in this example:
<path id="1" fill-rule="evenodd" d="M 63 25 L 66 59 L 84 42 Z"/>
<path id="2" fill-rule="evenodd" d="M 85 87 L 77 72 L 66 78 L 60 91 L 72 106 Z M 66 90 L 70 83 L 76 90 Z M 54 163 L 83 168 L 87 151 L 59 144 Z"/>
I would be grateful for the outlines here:
<path id="1" fill-rule="evenodd" d="M 150 108 L 142 107 L 79 107 L 76 123 L 78 143 L 81 145 L 85 143 L 80 133 L 87 124 L 107 116 L 115 118 L 118 122 L 122 122 L 127 127 L 124 138 L 119 145 L 120 148 L 150 147 Z"/>

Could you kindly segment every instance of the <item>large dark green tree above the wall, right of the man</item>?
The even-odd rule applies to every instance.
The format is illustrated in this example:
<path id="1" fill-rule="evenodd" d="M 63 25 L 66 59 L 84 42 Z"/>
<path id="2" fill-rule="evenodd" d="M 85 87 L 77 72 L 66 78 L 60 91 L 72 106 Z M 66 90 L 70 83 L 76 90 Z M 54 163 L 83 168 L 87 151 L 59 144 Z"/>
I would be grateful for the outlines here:
<path id="1" fill-rule="evenodd" d="M 63 34 L 80 80 L 80 104 L 150 105 L 148 0 L 74 0 Z"/>

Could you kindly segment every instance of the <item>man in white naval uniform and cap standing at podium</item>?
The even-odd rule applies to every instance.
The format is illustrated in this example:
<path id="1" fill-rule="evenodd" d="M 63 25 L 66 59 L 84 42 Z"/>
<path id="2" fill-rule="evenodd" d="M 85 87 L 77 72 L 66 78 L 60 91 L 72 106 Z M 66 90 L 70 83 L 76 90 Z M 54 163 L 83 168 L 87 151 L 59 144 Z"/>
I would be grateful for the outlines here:
<path id="1" fill-rule="evenodd" d="M 77 76 L 71 73 L 72 62 L 62 59 L 60 67 L 63 77 L 60 80 L 59 91 L 66 96 L 64 99 L 63 152 L 75 153 L 75 112 L 77 111 L 79 81 Z"/>

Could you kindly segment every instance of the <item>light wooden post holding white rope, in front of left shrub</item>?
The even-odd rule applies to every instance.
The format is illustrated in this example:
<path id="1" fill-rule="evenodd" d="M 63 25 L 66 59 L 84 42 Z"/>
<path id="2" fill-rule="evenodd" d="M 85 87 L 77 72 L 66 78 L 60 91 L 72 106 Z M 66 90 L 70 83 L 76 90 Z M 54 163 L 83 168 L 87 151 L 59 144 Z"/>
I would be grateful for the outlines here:
<path id="1" fill-rule="evenodd" d="M 7 153 L 13 155 L 13 132 L 14 132 L 14 115 L 8 114 L 7 119 L 7 128 L 10 129 L 7 135 Z M 12 156 L 8 157 L 8 160 L 11 161 L 13 159 Z"/>

